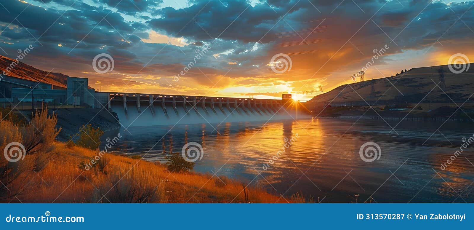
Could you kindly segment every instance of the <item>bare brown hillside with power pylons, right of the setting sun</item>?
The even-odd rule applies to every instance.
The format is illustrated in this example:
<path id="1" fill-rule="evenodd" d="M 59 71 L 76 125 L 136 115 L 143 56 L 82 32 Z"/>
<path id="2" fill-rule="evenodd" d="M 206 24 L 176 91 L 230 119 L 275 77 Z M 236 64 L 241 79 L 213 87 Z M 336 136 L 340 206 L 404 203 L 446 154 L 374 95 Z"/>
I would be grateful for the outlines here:
<path id="1" fill-rule="evenodd" d="M 445 70 L 447 87 L 444 92 L 435 84 L 439 81 L 437 70 L 441 66 Z M 452 100 L 463 103 L 474 92 L 474 65 L 471 64 L 471 68 L 461 74 L 451 73 L 447 65 L 414 68 L 393 77 L 374 79 L 374 96 L 370 95 L 371 88 L 371 79 L 366 76 L 364 82 L 341 85 L 315 96 L 307 104 L 309 107 L 318 107 L 325 102 L 330 102 L 332 106 L 367 105 L 365 101 L 373 103 L 377 100 L 377 105 L 403 102 L 416 104 L 420 101 L 454 104 Z"/>

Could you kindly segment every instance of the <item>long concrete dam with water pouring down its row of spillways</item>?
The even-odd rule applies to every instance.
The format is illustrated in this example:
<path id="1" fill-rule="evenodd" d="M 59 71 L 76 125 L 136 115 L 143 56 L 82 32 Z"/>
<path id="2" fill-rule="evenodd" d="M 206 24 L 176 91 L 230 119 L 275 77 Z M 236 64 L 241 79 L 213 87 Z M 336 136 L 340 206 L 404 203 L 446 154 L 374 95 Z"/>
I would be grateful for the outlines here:
<path id="1" fill-rule="evenodd" d="M 286 120 L 308 117 L 291 94 L 254 99 L 170 94 L 108 92 L 107 107 L 122 126 Z"/>

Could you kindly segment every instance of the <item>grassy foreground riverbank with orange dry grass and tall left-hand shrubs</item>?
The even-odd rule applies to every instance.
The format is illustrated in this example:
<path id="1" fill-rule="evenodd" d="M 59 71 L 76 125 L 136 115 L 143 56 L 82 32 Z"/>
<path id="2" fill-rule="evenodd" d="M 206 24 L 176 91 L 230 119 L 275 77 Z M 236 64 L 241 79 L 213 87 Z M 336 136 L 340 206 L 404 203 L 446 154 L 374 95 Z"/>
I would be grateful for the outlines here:
<path id="1" fill-rule="evenodd" d="M 0 148 L 5 149 L 5 157 L 0 157 L 0 202 L 286 202 L 224 176 L 178 172 L 138 156 L 80 147 L 94 146 L 84 139 L 95 137 L 92 132 L 82 133 L 75 144 L 58 142 L 60 113 L 49 114 L 38 110 L 27 122 L 16 113 L 0 111 Z"/>

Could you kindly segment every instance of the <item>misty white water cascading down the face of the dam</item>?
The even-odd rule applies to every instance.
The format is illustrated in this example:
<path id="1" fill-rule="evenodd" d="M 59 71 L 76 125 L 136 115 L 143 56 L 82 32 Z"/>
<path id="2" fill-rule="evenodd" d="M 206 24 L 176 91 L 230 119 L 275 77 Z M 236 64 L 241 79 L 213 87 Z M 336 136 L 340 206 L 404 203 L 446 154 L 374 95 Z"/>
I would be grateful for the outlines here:
<path id="1" fill-rule="evenodd" d="M 285 110 L 283 108 L 256 108 L 253 107 L 251 112 L 247 107 L 228 108 L 223 107 L 222 110 L 215 106 L 214 110 L 210 106 L 202 108 L 197 105 L 195 109 L 191 106 L 187 107 L 187 112 L 182 106 L 173 109 L 171 103 L 165 103 L 166 113 L 160 104 L 154 104 L 154 113 L 152 113 L 149 103 L 141 102 L 138 112 L 136 102 L 127 102 L 127 112 L 125 112 L 122 103 L 112 103 L 111 109 L 116 112 L 120 124 L 124 127 L 137 126 L 155 126 L 155 125 L 175 125 L 175 124 L 213 124 L 225 122 L 245 122 L 245 121 L 270 121 L 270 120 L 288 120 L 309 118 L 309 115 L 302 112 Z M 245 110 L 245 111 L 244 111 Z"/>

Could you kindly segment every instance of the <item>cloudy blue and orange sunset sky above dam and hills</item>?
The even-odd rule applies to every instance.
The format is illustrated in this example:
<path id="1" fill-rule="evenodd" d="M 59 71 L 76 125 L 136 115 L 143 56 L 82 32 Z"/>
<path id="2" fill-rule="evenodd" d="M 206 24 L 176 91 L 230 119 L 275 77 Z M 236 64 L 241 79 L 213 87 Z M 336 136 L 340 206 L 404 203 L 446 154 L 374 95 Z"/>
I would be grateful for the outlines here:
<path id="1" fill-rule="evenodd" d="M 24 63 L 87 77 L 100 91 L 254 98 L 290 92 L 306 101 L 318 93 L 302 91 L 351 83 L 349 76 L 368 62 L 366 80 L 447 64 L 456 53 L 473 56 L 473 4 L 2 0 L 0 55 L 14 58 L 31 44 Z M 383 48 L 373 62 L 374 52 Z M 94 70 L 92 60 L 99 54 L 113 58 L 112 71 Z M 278 54 L 288 55 L 287 63 L 272 62 Z M 279 65 L 286 70 L 274 71 Z"/>

